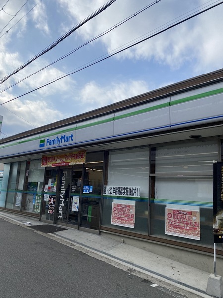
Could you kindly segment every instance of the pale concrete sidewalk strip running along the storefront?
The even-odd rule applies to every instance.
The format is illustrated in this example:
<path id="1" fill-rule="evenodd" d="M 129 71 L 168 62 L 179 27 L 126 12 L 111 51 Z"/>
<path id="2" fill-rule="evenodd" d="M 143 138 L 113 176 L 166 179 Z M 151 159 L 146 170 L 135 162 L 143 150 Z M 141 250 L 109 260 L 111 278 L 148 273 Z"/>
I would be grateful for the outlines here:
<path id="1" fill-rule="evenodd" d="M 3 211 L 0 211 L 0 218 L 24 227 L 27 227 L 27 225 L 25 225 L 27 222 L 31 223 L 31 228 L 41 228 L 41 225 L 49 225 L 40 222 L 34 217 Z M 162 282 L 169 283 L 200 297 L 213 297 L 206 294 L 208 277 L 210 275 L 208 272 L 120 243 L 105 236 L 95 235 L 64 226 L 54 225 L 54 227 L 57 227 L 58 230 L 60 228 L 63 230 L 45 235 L 50 235 L 51 238 L 54 237 L 55 239 L 57 238 L 57 240 L 67 241 L 71 243 L 74 248 L 82 247 L 88 252 L 101 255 L 123 266 L 127 266 L 129 267 L 129 272 L 131 272 L 131 270 L 141 272 L 151 278 L 155 278 L 155 280 L 158 279 Z"/>

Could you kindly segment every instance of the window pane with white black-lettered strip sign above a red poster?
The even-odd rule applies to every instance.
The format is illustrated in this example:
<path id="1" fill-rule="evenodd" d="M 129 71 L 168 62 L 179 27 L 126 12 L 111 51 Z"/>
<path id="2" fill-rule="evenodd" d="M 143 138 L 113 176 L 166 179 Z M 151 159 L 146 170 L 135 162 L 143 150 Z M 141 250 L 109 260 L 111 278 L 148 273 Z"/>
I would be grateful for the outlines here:
<path id="1" fill-rule="evenodd" d="M 148 234 L 149 148 L 109 153 L 102 225 Z"/>

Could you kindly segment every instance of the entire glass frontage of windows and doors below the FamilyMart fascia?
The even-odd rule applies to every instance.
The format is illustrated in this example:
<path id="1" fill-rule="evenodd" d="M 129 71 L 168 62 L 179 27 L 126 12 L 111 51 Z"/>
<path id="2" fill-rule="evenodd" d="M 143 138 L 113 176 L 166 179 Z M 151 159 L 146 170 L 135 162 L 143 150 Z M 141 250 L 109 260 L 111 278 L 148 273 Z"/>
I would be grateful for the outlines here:
<path id="1" fill-rule="evenodd" d="M 1 207 L 51 224 L 211 248 L 221 151 L 212 137 L 30 156 L 5 164 Z"/>

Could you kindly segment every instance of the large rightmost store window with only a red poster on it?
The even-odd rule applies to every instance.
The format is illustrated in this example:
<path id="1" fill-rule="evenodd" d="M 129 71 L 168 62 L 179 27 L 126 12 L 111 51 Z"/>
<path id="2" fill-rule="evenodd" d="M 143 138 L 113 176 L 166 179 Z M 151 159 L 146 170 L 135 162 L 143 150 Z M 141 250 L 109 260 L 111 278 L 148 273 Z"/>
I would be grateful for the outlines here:
<path id="1" fill-rule="evenodd" d="M 213 245 L 214 160 L 214 141 L 151 149 L 150 235 Z"/>

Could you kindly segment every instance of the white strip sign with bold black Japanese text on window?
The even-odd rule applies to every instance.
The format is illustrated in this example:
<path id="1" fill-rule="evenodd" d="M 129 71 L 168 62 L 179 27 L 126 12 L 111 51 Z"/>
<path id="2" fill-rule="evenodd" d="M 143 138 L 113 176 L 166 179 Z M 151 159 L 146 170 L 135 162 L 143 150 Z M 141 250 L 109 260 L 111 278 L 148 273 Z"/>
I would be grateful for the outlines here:
<path id="1" fill-rule="evenodd" d="M 103 189 L 103 195 L 140 198 L 140 187 L 105 185 Z"/>

